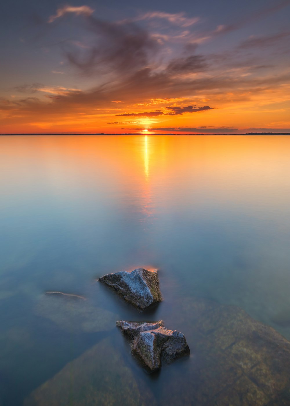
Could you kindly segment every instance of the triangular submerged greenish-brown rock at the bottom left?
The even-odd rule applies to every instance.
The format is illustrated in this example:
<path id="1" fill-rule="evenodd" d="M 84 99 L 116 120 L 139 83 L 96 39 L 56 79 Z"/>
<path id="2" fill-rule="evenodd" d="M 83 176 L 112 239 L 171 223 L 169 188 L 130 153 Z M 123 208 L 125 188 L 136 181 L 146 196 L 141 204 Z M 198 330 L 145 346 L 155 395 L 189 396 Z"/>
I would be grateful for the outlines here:
<path id="1" fill-rule="evenodd" d="M 110 340 L 100 341 L 35 389 L 24 406 L 156 405 Z"/>

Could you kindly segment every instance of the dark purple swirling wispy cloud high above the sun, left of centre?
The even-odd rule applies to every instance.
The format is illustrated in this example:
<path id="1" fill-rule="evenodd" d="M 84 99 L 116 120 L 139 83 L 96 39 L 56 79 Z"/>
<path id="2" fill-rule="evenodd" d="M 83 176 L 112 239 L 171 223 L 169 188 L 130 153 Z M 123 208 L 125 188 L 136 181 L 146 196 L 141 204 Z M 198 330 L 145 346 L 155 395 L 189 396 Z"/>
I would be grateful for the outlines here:
<path id="1" fill-rule="evenodd" d="M 136 24 L 118 24 L 87 16 L 87 29 L 94 35 L 94 45 L 88 49 L 75 49 L 63 45 L 71 65 L 84 74 L 101 72 L 128 75 L 149 65 L 149 56 L 160 46 L 143 28 Z"/>

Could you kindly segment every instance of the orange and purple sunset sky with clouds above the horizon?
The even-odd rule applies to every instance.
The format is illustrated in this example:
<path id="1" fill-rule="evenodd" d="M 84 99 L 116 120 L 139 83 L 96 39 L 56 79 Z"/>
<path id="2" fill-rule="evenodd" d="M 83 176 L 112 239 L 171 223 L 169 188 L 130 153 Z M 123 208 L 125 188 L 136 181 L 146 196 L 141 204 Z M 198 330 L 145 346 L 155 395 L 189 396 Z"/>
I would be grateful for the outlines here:
<path id="1" fill-rule="evenodd" d="M 1 8 L 0 134 L 290 132 L 290 0 Z"/>

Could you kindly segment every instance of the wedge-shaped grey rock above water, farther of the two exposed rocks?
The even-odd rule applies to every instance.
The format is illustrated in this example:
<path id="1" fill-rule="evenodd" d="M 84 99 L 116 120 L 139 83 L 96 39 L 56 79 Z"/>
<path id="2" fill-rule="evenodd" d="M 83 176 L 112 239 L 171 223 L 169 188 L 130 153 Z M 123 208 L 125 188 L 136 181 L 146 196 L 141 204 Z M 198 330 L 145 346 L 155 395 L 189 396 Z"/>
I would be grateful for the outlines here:
<path id="1" fill-rule="evenodd" d="M 107 274 L 99 281 L 106 283 L 139 311 L 162 301 L 157 271 L 138 268 L 132 272 Z"/>

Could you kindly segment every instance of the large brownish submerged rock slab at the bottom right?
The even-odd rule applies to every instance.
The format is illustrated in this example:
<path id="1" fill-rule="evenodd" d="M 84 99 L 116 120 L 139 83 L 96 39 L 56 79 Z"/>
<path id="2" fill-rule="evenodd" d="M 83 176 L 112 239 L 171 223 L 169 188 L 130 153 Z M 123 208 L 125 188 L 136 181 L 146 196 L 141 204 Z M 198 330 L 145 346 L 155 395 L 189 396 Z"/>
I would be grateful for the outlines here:
<path id="1" fill-rule="evenodd" d="M 194 356 L 163 371 L 163 404 L 290 405 L 290 342 L 273 328 L 238 307 L 193 297 L 174 303 L 171 322 Z"/>

